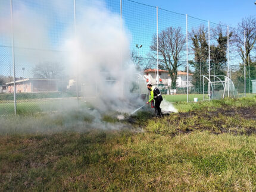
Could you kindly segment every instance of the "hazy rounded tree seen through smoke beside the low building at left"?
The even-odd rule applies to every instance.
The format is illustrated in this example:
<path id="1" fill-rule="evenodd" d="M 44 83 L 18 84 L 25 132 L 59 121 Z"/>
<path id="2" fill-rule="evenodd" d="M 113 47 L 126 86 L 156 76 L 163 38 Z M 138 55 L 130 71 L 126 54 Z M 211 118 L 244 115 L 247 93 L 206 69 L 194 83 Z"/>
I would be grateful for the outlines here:
<path id="1" fill-rule="evenodd" d="M 38 78 L 59 78 L 63 70 L 63 65 L 58 62 L 42 62 L 33 68 L 33 74 Z"/>

